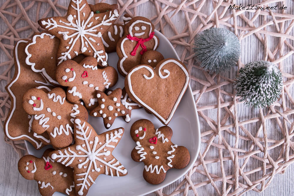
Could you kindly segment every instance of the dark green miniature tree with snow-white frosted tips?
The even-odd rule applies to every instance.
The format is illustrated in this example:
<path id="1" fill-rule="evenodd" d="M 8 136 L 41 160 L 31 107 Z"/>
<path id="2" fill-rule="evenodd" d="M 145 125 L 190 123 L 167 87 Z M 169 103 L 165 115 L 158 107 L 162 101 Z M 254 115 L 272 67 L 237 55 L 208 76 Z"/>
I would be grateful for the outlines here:
<path id="1" fill-rule="evenodd" d="M 272 62 L 250 62 L 240 69 L 234 88 L 236 96 L 241 96 L 239 100 L 248 107 L 264 108 L 280 97 L 282 73 Z"/>

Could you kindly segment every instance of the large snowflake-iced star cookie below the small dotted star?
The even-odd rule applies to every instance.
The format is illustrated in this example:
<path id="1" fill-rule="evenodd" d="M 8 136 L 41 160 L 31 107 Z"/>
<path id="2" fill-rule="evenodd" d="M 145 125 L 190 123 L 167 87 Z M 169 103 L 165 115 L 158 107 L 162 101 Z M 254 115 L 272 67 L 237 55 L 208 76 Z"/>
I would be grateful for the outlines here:
<path id="1" fill-rule="evenodd" d="M 87 195 L 91 185 L 100 174 L 124 176 L 127 170 L 112 155 L 113 149 L 123 135 L 123 128 L 97 135 L 93 127 L 83 119 L 74 119 L 76 143 L 53 151 L 51 158 L 74 168 L 74 183 L 77 195 Z"/>

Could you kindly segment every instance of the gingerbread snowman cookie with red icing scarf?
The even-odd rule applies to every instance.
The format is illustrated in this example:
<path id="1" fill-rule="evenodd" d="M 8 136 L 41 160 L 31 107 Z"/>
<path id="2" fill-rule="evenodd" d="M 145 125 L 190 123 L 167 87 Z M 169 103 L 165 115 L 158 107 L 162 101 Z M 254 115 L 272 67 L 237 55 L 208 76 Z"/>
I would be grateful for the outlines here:
<path id="1" fill-rule="evenodd" d="M 159 39 L 154 35 L 154 25 L 148 18 L 137 16 L 125 24 L 125 36 L 117 43 L 116 53 L 119 57 L 117 68 L 121 75 L 139 65 L 142 55 L 147 50 L 156 50 Z"/>

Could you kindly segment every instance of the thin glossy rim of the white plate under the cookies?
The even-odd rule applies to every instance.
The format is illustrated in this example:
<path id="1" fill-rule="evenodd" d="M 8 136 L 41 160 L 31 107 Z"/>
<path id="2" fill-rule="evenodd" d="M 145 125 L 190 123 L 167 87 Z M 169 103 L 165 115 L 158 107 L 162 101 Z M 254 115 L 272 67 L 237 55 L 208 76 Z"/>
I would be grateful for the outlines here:
<path id="1" fill-rule="evenodd" d="M 178 56 L 178 53 L 176 52 L 176 50 L 175 50 L 175 48 L 173 48 L 173 45 L 171 44 L 171 42 L 168 40 L 168 38 L 166 38 L 166 36 L 164 36 L 161 32 L 159 32 L 159 31 L 157 31 L 156 29 L 154 30 L 154 32 L 155 32 L 155 34 L 156 34 L 156 36 L 160 36 L 160 38 L 161 39 L 164 39 L 164 40 L 166 40 L 167 41 L 167 43 L 168 43 L 168 45 L 169 45 L 169 47 L 170 48 L 172 48 L 172 51 L 173 51 L 173 53 L 176 55 L 176 57 L 177 57 L 177 59 L 179 60 L 179 61 L 181 61 L 180 60 L 180 58 L 179 58 L 179 56 Z M 159 39 L 160 40 L 160 39 Z M 186 65 L 185 65 L 186 66 Z M 183 168 L 182 170 L 183 170 L 183 173 L 184 173 L 184 175 L 193 167 L 193 165 L 194 165 L 194 163 L 195 163 L 195 161 L 197 160 L 197 158 L 198 158 L 198 155 L 199 155 L 199 151 L 200 151 L 200 144 L 201 144 L 201 142 L 200 142 L 200 140 L 201 140 L 201 136 L 200 136 L 200 123 L 199 123 L 199 116 L 198 116 L 198 112 L 197 112 L 197 107 L 196 107 L 196 103 L 195 103 L 195 98 L 194 98 L 194 95 L 193 95 L 193 91 L 192 91 L 192 88 L 191 88 L 191 85 L 190 85 L 190 82 L 189 82 L 189 84 L 188 84 L 188 88 L 187 88 L 187 90 L 186 90 L 186 92 L 185 93 L 189 93 L 190 95 L 189 96 L 192 96 L 193 97 L 193 105 L 194 105 L 194 112 L 195 112 L 195 115 L 196 115 L 196 124 L 197 124 L 197 127 L 196 127 L 196 129 L 194 129 L 194 130 L 196 130 L 196 134 L 197 134 L 197 136 L 198 136 L 198 145 L 197 145 L 197 149 L 196 149 L 196 156 L 195 156 L 195 158 L 193 159 L 193 160 L 190 160 L 190 162 L 189 163 L 193 163 L 193 164 L 191 164 L 191 166 L 190 167 L 187 167 L 187 168 Z M 165 126 L 168 126 L 168 125 L 165 125 Z M 198 131 L 197 131 L 198 130 Z M 26 141 L 26 140 L 24 140 L 24 143 L 25 143 L 25 146 L 26 146 L 26 150 L 27 150 L 27 152 L 28 152 L 28 154 L 30 154 L 31 155 L 31 152 L 29 151 L 29 148 L 28 148 L 28 141 Z M 37 150 L 37 149 L 36 149 Z M 40 150 L 40 149 L 39 149 Z M 192 162 L 191 162 L 192 161 Z M 168 184 L 165 184 L 165 185 L 162 185 L 162 186 L 160 186 L 160 187 L 156 187 L 156 188 L 153 188 L 152 190 L 150 190 L 150 191 L 148 191 L 148 192 L 145 192 L 145 193 L 143 193 L 143 194 L 141 194 L 141 195 L 138 195 L 138 196 L 142 196 L 142 195 L 147 195 L 147 194 L 149 194 L 149 193 L 152 193 L 152 192 L 154 192 L 154 191 L 156 191 L 156 190 L 159 190 L 159 189 L 161 189 L 161 188 L 163 188 L 163 187 L 166 187 L 166 186 L 168 186 L 168 185 L 171 185 L 172 183 L 174 183 L 174 182 L 176 182 L 178 179 L 180 179 L 182 176 L 184 176 L 184 175 L 181 175 L 181 176 L 179 176 L 178 178 L 175 178 L 175 179 L 173 179 L 173 180 L 171 180 L 171 182 L 170 183 L 168 183 Z M 54 196 L 54 194 L 53 194 L 53 196 Z"/>

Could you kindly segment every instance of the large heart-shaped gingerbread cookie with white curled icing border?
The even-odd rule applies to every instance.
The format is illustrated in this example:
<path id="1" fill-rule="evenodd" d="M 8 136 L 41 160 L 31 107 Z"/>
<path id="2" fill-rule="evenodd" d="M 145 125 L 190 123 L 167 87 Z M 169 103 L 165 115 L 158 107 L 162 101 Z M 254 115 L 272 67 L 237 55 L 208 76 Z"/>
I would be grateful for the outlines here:
<path id="1" fill-rule="evenodd" d="M 186 66 L 176 59 L 156 65 L 138 65 L 128 73 L 125 88 L 128 96 L 167 125 L 189 84 Z"/>

